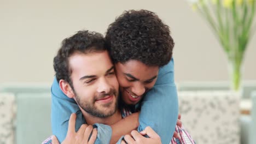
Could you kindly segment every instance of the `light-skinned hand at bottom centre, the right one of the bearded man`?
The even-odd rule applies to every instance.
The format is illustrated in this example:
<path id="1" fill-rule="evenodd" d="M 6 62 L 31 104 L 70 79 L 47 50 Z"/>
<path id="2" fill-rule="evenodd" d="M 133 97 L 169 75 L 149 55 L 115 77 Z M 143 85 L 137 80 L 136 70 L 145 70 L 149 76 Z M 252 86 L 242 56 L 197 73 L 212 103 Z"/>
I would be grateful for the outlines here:
<path id="1" fill-rule="evenodd" d="M 146 127 L 143 131 L 141 131 L 140 133 L 138 133 L 138 131 L 133 130 L 131 132 L 131 135 L 125 135 L 124 139 L 127 143 L 153 143 L 153 144 L 158 144 L 161 143 L 161 138 L 158 134 L 155 133 L 155 131 L 150 128 L 150 127 Z M 144 137 L 143 135 L 148 135 L 148 137 Z M 122 141 L 121 143 L 125 143 L 124 141 Z"/>

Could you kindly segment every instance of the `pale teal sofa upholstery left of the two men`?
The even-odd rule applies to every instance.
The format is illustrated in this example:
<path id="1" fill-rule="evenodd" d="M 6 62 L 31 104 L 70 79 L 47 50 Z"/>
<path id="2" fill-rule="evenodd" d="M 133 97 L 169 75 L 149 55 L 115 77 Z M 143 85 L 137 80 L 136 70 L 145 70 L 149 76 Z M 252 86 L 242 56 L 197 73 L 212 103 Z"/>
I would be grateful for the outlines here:
<path id="1" fill-rule="evenodd" d="M 12 93 L 15 96 L 15 143 L 41 143 L 51 135 L 50 92 L 51 85 L 48 83 L 0 85 L 0 93 Z"/>

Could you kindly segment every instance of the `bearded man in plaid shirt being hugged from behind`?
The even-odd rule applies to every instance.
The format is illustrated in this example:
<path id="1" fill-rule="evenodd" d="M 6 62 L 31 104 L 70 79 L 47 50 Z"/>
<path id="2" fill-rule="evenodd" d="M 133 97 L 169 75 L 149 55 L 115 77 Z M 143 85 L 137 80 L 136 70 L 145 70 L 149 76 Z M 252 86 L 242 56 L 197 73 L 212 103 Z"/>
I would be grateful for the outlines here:
<path id="1" fill-rule="evenodd" d="M 62 41 L 62 46 L 54 58 L 56 79 L 62 92 L 75 100 L 88 124 L 83 124 L 75 135 L 75 116 L 72 114 L 68 135 L 62 143 L 94 143 L 96 129 L 93 127 L 99 130 L 102 124 L 112 125 L 123 118 L 118 109 L 119 85 L 114 65 L 104 44 L 101 34 L 79 31 Z M 91 139 L 88 141 L 90 134 Z M 82 138 L 78 139 L 79 136 Z M 160 138 L 156 140 L 161 142 Z"/>

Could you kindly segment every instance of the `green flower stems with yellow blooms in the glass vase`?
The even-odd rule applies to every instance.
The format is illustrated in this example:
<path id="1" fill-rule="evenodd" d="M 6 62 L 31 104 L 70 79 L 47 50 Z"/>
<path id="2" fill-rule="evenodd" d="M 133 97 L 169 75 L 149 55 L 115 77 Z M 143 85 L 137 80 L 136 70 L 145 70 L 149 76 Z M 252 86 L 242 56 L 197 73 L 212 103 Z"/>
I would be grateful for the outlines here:
<path id="1" fill-rule="evenodd" d="M 240 87 L 241 64 L 256 26 L 256 0 L 190 0 L 193 10 L 210 24 L 232 65 L 232 89 Z"/>

